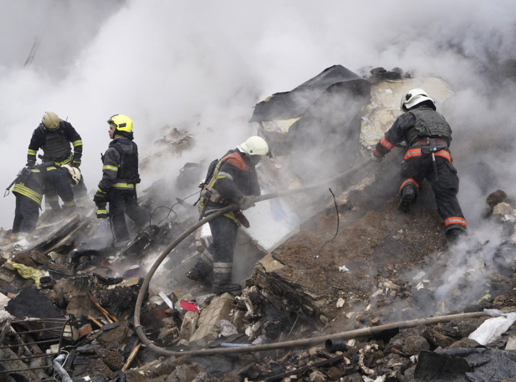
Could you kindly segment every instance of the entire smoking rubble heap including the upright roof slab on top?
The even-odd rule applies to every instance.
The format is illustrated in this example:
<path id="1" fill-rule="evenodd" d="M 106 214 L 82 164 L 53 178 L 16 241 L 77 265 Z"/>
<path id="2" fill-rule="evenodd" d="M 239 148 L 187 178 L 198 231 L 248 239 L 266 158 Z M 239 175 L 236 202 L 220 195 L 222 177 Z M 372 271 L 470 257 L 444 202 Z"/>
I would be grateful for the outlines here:
<path id="1" fill-rule="evenodd" d="M 412 79 L 399 68 L 368 72 L 334 66 L 257 105 L 252 122 L 273 148 L 293 153 L 264 158 L 257 169 L 264 193 L 363 162 L 378 139 L 366 129 L 386 130 L 382 121 L 394 115 L 385 100 L 404 81 L 449 96 L 437 79 Z M 327 124 L 321 105 L 343 100 L 350 112 Z M 325 130 L 312 132 L 317 149 L 307 157 L 301 138 L 314 124 Z M 168 130 L 156 142 L 162 155 L 195 147 L 195 135 Z M 321 156 L 338 166 L 303 167 Z M 393 162 L 401 157 L 394 152 L 317 192 L 246 211 L 237 296 L 215 295 L 185 276 L 211 240 L 204 227 L 158 262 L 198 222 L 195 200 L 160 192 L 165 180 L 143 190 L 150 224 L 141 232 L 130 226 L 134 238 L 124 248 L 112 246 L 109 222 L 94 218 L 92 203 L 73 215 L 45 212 L 36 231 L 0 250 L 0 380 L 515 379 L 514 199 L 503 190 L 486 198 L 483 223 L 499 240 L 447 243 L 426 181 L 414 208 L 398 212 Z M 178 184 L 196 184 L 205 164 L 185 164 Z"/>

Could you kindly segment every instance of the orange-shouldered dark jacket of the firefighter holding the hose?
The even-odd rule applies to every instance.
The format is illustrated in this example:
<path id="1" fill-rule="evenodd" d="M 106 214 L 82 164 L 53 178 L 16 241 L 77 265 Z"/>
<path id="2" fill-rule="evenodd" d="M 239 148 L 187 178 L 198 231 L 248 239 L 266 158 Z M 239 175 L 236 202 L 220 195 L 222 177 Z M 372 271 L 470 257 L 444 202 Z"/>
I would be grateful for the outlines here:
<path id="1" fill-rule="evenodd" d="M 206 192 L 207 190 L 207 192 Z M 240 203 L 244 196 L 260 195 L 260 184 L 251 156 L 238 149 L 228 151 L 217 163 L 201 192 L 199 208 L 204 215 Z M 237 222 L 233 213 L 224 214 Z"/>

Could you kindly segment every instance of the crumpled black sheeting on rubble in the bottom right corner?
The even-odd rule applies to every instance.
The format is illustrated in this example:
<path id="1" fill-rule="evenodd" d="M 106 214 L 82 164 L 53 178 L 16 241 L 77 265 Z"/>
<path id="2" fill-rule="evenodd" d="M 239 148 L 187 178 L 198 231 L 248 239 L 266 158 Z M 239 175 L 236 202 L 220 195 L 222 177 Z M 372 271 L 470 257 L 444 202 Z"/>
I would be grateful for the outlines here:
<path id="1" fill-rule="evenodd" d="M 516 354 L 490 347 L 421 351 L 415 381 L 484 382 L 516 378 Z"/>

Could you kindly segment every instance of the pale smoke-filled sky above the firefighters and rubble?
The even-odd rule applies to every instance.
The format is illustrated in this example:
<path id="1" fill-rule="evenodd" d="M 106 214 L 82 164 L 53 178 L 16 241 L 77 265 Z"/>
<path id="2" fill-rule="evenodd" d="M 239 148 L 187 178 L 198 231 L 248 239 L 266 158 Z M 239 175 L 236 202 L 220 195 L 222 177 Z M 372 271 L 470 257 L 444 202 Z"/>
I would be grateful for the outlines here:
<path id="1" fill-rule="evenodd" d="M 82 135 L 89 189 L 101 178 L 111 115 L 134 120 L 141 152 L 152 150 L 164 125 L 197 116 L 211 132 L 199 134 L 198 150 L 160 163 L 160 174 L 142 174 L 142 186 L 175 178 L 187 159 L 218 157 L 253 133 L 255 103 L 336 64 L 444 78 L 455 92 L 445 116 L 457 147 L 486 131 L 509 132 L 514 84 L 495 92 L 489 84 L 515 55 L 515 20 L 510 0 L 0 0 L 2 181 L 7 187 L 24 166 L 45 110 Z M 457 163 L 459 197 L 473 206 L 465 214 L 474 222 L 486 190 L 466 157 Z M 511 157 L 482 158 L 496 188 L 514 193 Z M 14 197 L 0 198 L 0 208 L 0 226 L 9 229 Z"/>

